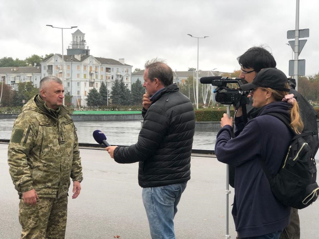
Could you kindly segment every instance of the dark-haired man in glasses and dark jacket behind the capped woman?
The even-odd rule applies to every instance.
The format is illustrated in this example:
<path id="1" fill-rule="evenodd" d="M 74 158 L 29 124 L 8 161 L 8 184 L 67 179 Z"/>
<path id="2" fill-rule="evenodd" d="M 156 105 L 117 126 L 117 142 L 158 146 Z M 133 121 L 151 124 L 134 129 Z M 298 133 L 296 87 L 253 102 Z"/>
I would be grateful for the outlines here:
<path id="1" fill-rule="evenodd" d="M 251 47 L 244 54 L 237 58 L 240 66 L 241 66 L 241 74 L 240 78 L 245 79 L 248 83 L 251 83 L 257 73 L 263 68 L 275 68 L 276 61 L 272 54 L 267 51 L 264 47 Z M 294 94 L 297 99 L 298 105 L 300 107 L 300 115 L 302 121 L 304 123 L 303 132 L 316 132 L 315 135 L 310 135 L 307 138 L 307 142 L 312 149 L 312 154 L 315 156 L 318 147 L 319 147 L 319 139 L 318 139 L 318 127 L 317 127 L 317 113 L 315 112 L 312 105 L 303 98 L 303 96 L 295 91 L 295 82 L 294 79 L 288 80 L 290 87 L 289 94 Z M 252 97 L 250 98 L 250 103 L 247 105 L 247 117 L 248 120 L 255 118 L 260 109 L 257 109 L 252 106 Z M 235 135 L 237 136 L 242 129 L 244 128 L 244 121 L 242 117 L 241 108 L 237 111 L 235 117 L 235 123 L 237 126 L 237 131 Z M 229 184 L 234 187 L 234 175 L 235 175 L 235 167 L 229 165 Z M 300 239 L 300 225 L 299 225 L 299 215 L 298 209 L 292 208 L 290 214 L 290 224 L 284 228 L 283 232 L 280 235 L 280 239 Z"/>

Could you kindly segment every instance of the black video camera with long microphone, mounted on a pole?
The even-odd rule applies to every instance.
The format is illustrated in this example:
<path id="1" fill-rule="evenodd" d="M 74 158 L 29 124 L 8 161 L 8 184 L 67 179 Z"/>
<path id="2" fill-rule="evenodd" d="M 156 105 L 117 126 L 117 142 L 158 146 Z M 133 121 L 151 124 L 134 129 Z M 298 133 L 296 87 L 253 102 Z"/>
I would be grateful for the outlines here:
<path id="1" fill-rule="evenodd" d="M 250 91 L 242 91 L 239 87 L 247 84 L 247 81 L 241 78 L 232 78 L 226 76 L 208 76 L 200 78 L 200 83 L 217 86 L 214 90 L 215 99 L 223 105 L 248 105 Z M 235 85 L 234 85 L 235 84 Z"/>

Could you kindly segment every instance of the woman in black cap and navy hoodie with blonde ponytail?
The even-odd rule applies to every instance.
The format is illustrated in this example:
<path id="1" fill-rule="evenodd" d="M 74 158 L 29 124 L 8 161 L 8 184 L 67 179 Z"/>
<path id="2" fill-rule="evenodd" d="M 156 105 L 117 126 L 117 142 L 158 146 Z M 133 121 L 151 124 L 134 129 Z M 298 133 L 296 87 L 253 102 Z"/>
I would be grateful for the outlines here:
<path id="1" fill-rule="evenodd" d="M 281 120 L 267 114 L 283 114 L 293 130 L 300 133 L 303 123 L 299 106 L 293 95 L 288 95 L 286 75 L 276 68 L 261 70 L 252 83 L 241 89 L 251 90 L 253 106 L 261 110 L 234 139 L 233 119 L 224 114 L 215 154 L 220 162 L 236 167 L 232 214 L 239 238 L 278 239 L 289 224 L 290 207 L 274 197 L 259 161 L 265 162 L 271 175 L 278 172 L 293 135 Z"/>

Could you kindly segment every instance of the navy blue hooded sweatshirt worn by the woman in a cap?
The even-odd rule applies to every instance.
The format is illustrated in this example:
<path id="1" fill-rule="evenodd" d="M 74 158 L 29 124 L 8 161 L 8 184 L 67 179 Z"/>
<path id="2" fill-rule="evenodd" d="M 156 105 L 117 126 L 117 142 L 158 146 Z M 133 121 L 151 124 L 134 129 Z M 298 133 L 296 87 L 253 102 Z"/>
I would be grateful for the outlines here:
<path id="1" fill-rule="evenodd" d="M 271 175 L 278 172 L 292 138 L 286 125 L 274 116 L 278 112 L 290 119 L 286 102 L 263 106 L 243 131 L 231 139 L 229 125 L 217 134 L 215 154 L 218 161 L 233 164 L 235 196 L 232 214 L 239 237 L 260 236 L 285 228 L 290 222 L 290 207 L 278 202 L 259 160 L 265 161 Z"/>

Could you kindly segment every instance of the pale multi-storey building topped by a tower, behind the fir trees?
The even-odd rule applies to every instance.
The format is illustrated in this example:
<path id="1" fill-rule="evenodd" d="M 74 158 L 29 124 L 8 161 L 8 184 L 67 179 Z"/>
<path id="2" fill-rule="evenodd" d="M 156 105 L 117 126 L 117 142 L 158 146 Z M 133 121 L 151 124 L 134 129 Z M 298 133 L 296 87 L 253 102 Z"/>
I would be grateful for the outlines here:
<path id="1" fill-rule="evenodd" d="M 99 91 L 103 81 L 111 94 L 115 80 L 123 80 L 131 90 L 132 66 L 125 64 L 124 59 L 94 57 L 85 47 L 85 34 L 80 30 L 72 33 L 72 41 L 67 55 L 54 54 L 41 62 L 41 78 L 53 75 L 64 80 L 66 95 L 72 95 L 74 105 L 86 106 L 87 93 L 96 88 Z M 64 77 L 63 77 L 64 68 Z"/>

